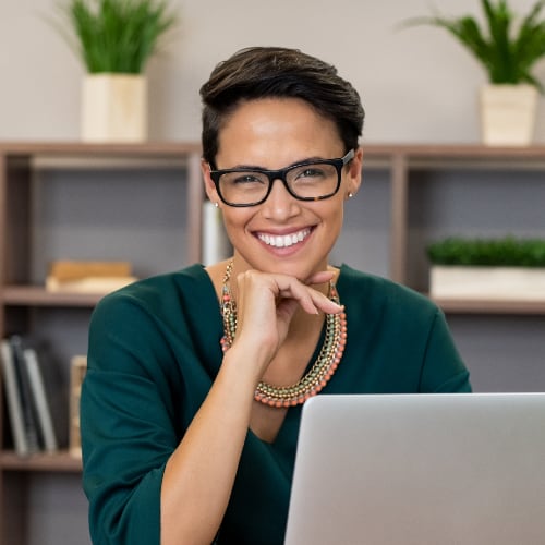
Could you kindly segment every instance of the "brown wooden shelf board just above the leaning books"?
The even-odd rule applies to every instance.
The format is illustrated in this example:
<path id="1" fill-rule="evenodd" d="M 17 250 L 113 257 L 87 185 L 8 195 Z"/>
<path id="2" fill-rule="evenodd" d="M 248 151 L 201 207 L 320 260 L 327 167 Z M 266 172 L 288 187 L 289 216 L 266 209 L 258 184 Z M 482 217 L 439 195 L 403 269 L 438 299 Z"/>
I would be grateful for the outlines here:
<path id="1" fill-rule="evenodd" d="M 52 292 L 43 286 L 5 286 L 2 300 L 13 306 L 93 307 L 106 293 Z"/>

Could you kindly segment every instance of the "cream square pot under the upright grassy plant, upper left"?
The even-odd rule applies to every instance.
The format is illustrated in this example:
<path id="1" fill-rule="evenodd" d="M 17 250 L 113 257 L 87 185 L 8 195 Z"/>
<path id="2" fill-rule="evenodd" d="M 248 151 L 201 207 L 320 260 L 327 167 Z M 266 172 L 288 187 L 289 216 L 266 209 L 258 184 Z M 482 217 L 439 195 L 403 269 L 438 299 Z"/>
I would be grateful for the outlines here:
<path id="1" fill-rule="evenodd" d="M 82 89 L 82 140 L 144 142 L 147 80 L 141 74 L 87 74 Z"/>

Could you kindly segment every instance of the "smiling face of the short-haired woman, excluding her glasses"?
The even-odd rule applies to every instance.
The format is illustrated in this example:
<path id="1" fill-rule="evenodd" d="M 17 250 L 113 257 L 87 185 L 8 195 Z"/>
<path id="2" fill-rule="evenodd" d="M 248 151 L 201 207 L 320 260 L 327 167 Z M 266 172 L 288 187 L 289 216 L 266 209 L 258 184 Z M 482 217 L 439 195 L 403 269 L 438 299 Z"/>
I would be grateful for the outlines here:
<path id="1" fill-rule="evenodd" d="M 299 99 L 257 99 L 243 102 L 219 133 L 218 169 L 252 166 L 281 169 L 307 159 L 334 159 L 346 153 L 335 123 Z M 234 247 L 237 270 L 254 268 L 305 280 L 327 267 L 339 237 L 343 204 L 361 183 L 362 152 L 342 169 L 339 191 L 324 201 L 299 201 L 280 180 L 256 206 L 225 205 L 203 165 L 206 192 L 221 207 Z M 294 242 L 295 241 L 295 242 Z"/>

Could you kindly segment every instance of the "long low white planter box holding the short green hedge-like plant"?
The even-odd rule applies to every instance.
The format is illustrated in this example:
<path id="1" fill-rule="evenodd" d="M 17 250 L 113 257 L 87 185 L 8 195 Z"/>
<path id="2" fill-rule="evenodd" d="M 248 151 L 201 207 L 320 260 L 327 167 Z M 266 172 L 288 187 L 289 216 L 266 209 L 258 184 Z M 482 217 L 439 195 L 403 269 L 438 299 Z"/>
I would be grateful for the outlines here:
<path id="1" fill-rule="evenodd" d="M 545 301 L 545 268 L 433 266 L 429 294 L 437 299 Z"/>

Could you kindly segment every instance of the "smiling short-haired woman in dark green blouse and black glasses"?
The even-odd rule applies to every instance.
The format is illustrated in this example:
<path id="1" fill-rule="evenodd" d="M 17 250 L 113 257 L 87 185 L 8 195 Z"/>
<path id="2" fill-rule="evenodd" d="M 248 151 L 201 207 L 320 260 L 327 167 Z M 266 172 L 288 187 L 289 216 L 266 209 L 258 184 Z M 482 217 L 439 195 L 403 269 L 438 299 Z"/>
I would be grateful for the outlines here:
<path id="1" fill-rule="evenodd" d="M 469 391 L 441 313 L 334 267 L 364 112 L 335 68 L 252 48 L 203 86 L 203 177 L 232 258 L 96 308 L 82 392 L 97 544 L 280 544 L 301 407 L 319 391 Z"/>

